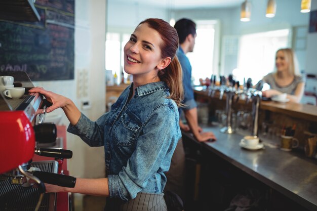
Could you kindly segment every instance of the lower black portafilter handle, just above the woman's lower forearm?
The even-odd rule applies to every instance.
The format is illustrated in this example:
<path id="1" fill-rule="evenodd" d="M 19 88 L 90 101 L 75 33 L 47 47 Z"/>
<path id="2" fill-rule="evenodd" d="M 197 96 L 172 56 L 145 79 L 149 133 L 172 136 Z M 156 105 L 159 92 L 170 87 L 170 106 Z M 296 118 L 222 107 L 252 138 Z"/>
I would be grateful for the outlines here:
<path id="1" fill-rule="evenodd" d="M 49 172 L 41 172 L 41 171 L 33 171 L 32 175 L 37 177 L 44 183 L 58 185 L 61 187 L 73 188 L 76 184 L 76 178 L 67 176 L 67 175 L 59 175 Z"/>

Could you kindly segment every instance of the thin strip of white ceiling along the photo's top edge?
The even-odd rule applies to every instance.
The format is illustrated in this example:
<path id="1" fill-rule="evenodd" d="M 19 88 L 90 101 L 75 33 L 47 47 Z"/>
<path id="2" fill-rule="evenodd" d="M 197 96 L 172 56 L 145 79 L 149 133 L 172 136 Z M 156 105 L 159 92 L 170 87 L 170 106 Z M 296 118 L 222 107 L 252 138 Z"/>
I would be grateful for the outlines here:
<path id="1" fill-rule="evenodd" d="M 156 7 L 168 7 L 172 9 L 189 8 L 228 8 L 241 5 L 244 0 L 108 0 L 122 4 L 144 4 Z"/>

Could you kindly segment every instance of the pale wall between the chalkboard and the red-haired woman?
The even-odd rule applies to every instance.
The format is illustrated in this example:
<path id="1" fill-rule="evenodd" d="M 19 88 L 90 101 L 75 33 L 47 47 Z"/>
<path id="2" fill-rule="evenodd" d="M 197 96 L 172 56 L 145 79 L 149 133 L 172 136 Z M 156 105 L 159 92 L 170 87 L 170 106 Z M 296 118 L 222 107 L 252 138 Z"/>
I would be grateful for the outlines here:
<path id="1" fill-rule="evenodd" d="M 34 81 L 34 86 L 41 86 L 70 98 L 92 120 L 96 120 L 105 111 L 105 26 L 106 1 L 76 0 L 74 80 Z M 83 101 L 89 101 L 91 108 L 83 110 Z M 53 113 L 63 114 L 63 111 L 57 109 Z M 69 124 L 65 115 L 62 123 Z M 68 169 L 72 176 L 104 177 L 103 147 L 91 148 L 69 133 L 67 145 L 73 151 L 73 157 L 68 160 Z"/>

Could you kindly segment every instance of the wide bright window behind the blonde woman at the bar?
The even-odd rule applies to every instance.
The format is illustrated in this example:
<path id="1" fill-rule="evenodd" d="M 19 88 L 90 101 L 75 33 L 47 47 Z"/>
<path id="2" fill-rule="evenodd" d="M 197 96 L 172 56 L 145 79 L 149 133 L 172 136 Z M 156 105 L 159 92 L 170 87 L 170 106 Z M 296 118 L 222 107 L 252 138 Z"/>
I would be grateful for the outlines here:
<path id="1" fill-rule="evenodd" d="M 242 82 L 251 77 L 253 84 L 275 66 L 275 53 L 289 45 L 289 29 L 267 31 L 243 35 L 240 39 L 238 67 L 232 73 L 236 80 Z"/>

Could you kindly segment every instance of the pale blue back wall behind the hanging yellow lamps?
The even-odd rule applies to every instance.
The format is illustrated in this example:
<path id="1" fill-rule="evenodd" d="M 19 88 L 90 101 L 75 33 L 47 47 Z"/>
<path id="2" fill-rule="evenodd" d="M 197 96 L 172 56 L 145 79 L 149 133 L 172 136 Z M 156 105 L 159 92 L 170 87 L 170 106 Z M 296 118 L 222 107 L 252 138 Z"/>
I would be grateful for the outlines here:
<path id="1" fill-rule="evenodd" d="M 312 0 L 316 2 L 317 0 Z M 179 18 L 187 17 L 193 20 L 206 20 L 206 19 L 217 19 L 221 23 L 221 37 L 222 46 L 227 37 L 232 40 L 242 34 L 256 33 L 267 30 L 275 30 L 281 28 L 294 29 L 298 26 L 308 25 L 309 13 L 300 13 L 300 1 L 295 0 L 279 0 L 276 1 L 276 15 L 274 18 L 266 18 L 266 3 L 267 1 L 251 1 L 251 21 L 241 22 L 240 21 L 240 5 L 234 8 L 224 9 L 195 9 L 195 10 L 178 10 L 175 11 L 176 20 Z M 236 46 L 239 43 L 235 44 Z M 307 43 L 308 46 L 308 43 Z M 220 50 L 220 51 L 223 51 Z M 310 64 L 306 64 L 306 50 L 296 52 L 298 54 L 300 68 L 309 71 Z M 221 52 L 222 57 L 224 53 Z M 221 74 L 229 74 L 232 68 L 224 68 L 224 65 L 229 67 L 236 67 L 237 62 L 237 51 L 236 55 L 227 56 L 224 60 L 220 60 L 220 69 L 223 69 Z M 228 65 L 229 64 L 229 65 Z M 307 72 L 306 71 L 306 72 Z"/>

